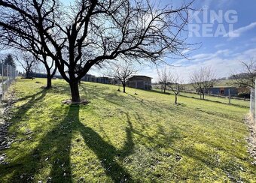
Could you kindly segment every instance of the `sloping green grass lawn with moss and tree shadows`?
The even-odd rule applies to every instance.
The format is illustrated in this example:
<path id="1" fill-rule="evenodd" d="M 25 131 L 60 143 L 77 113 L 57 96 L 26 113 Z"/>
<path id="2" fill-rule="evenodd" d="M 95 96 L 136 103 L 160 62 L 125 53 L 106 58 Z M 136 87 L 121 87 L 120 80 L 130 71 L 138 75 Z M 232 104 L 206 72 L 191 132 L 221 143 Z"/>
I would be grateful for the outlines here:
<path id="1" fill-rule="evenodd" d="M 35 83 L 35 82 L 41 83 Z M 248 108 L 82 83 L 84 106 L 61 104 L 69 86 L 17 80 L 9 132 L 16 141 L 0 182 L 255 182 L 243 118 Z M 1 154 L 0 153 L 0 154 Z"/>

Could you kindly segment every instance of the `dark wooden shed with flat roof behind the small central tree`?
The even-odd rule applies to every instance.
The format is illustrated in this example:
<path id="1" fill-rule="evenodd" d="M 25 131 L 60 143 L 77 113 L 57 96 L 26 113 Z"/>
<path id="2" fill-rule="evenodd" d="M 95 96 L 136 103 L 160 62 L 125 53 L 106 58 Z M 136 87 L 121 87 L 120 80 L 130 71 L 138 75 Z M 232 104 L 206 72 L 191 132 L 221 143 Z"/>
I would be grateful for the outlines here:
<path id="1" fill-rule="evenodd" d="M 129 80 L 127 81 L 127 86 L 135 89 L 150 90 L 152 88 L 151 80 L 151 77 L 136 75 L 129 78 Z"/>

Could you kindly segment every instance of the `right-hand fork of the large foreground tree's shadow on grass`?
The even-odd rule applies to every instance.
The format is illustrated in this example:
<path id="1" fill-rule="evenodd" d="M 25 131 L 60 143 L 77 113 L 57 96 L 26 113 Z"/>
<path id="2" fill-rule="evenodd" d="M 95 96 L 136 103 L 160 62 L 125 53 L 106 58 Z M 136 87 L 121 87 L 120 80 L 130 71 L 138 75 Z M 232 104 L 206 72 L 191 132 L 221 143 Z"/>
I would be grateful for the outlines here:
<path id="1" fill-rule="evenodd" d="M 93 150 L 98 159 L 102 162 L 106 175 L 114 182 L 131 181 L 129 172 L 123 169 L 114 159 L 115 157 L 126 157 L 133 151 L 132 124 L 128 121 L 129 127 L 126 127 L 126 142 L 121 150 L 105 142 L 95 130 L 79 121 L 79 106 L 70 108 L 75 119 L 75 130 L 83 136 L 86 145 Z"/>

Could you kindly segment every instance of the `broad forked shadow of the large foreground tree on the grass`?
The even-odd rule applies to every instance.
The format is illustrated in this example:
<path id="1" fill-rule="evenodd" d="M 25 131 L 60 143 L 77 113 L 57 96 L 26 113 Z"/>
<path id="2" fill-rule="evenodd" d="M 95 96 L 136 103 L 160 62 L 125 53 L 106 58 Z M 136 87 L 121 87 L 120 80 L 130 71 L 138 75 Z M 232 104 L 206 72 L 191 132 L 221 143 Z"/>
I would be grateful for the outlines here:
<path id="1" fill-rule="evenodd" d="M 72 182 L 70 160 L 72 133 L 79 132 L 87 147 L 102 162 L 105 174 L 112 181 L 131 181 L 129 172 L 120 166 L 115 158 L 126 157 L 133 151 L 132 124 L 128 122 L 129 125 L 126 127 L 125 145 L 122 149 L 116 149 L 114 145 L 102 139 L 102 136 L 91 127 L 81 123 L 79 106 L 71 105 L 67 110 L 69 111 L 66 117 L 47 132 L 32 151 L 27 152 L 8 165 L 0 166 L 5 169 L 5 171 L 0 172 L 0 175 L 3 177 L 9 174 L 8 176 L 10 176 L 11 172 L 11 177 L 8 178 L 8 181 L 11 182 L 33 181 L 35 178 L 38 179 L 36 176 L 38 174 L 42 174 L 43 177 L 49 175 L 47 180 L 41 181 Z M 86 107 L 84 110 L 86 110 Z"/>

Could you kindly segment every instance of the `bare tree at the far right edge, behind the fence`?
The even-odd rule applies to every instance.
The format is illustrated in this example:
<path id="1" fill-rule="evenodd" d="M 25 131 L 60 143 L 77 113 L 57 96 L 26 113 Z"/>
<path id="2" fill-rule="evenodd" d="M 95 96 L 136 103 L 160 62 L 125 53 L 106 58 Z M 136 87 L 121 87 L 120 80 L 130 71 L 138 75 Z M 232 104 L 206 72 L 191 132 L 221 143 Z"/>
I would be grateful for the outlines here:
<path id="1" fill-rule="evenodd" d="M 256 61 L 251 59 L 249 62 L 241 61 L 242 71 L 240 74 L 233 72 L 230 79 L 235 80 L 234 84 L 239 87 L 246 87 L 248 89 L 255 88 L 256 80 Z"/>

